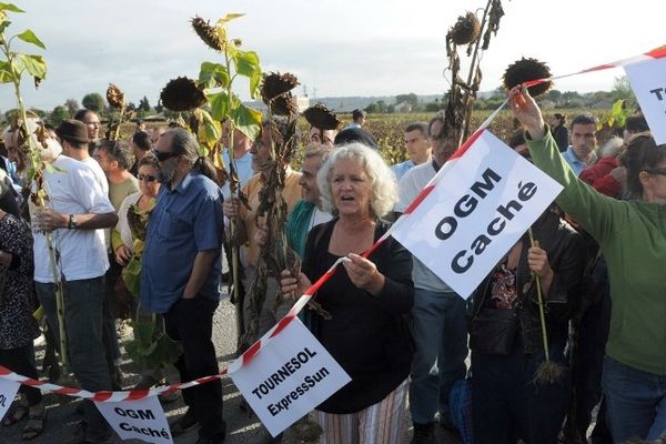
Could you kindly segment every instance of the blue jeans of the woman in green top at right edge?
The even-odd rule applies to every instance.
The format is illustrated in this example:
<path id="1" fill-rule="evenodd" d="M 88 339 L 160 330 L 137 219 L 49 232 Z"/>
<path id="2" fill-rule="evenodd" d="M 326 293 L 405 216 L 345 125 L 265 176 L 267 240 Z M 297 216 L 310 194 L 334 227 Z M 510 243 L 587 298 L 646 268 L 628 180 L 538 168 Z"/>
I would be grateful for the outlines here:
<path id="1" fill-rule="evenodd" d="M 602 375 L 613 441 L 654 441 L 666 431 L 666 375 L 633 369 L 606 355 Z"/>

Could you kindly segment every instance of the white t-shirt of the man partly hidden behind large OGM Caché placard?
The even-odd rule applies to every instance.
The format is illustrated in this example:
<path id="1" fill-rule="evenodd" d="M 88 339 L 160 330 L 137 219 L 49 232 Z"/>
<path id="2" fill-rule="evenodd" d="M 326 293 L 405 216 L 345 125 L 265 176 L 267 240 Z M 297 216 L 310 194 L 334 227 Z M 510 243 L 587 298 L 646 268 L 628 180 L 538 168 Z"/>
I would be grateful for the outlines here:
<path id="1" fill-rule="evenodd" d="M 398 213 L 404 212 L 436 173 L 432 161 L 416 165 L 405 172 L 397 185 L 400 199 L 395 204 L 394 211 Z M 412 266 L 412 280 L 414 281 L 414 287 L 416 289 L 434 292 L 453 291 L 415 256 Z"/>

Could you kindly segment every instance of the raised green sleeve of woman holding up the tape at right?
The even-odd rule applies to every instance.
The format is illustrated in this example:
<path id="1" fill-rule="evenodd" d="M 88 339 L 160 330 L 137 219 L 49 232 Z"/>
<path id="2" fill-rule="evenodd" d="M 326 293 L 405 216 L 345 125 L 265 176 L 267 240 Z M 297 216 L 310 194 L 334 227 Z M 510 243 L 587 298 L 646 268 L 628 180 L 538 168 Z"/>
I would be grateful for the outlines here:
<path id="1" fill-rule="evenodd" d="M 547 128 L 542 140 L 531 140 L 528 133 L 525 139 L 534 164 L 564 186 L 556 199 L 557 204 L 597 242 L 608 239 L 623 226 L 627 219 L 627 202 L 605 196 L 581 181 L 559 153 Z"/>

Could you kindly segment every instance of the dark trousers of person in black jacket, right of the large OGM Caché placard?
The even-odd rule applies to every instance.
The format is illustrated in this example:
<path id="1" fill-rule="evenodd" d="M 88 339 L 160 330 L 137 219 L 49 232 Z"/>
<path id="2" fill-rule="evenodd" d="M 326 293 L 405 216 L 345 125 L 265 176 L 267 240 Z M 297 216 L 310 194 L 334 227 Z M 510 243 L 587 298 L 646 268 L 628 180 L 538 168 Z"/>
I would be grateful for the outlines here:
<path id="1" fill-rule="evenodd" d="M 564 365 L 562 350 L 551 360 Z M 571 375 L 555 384 L 535 384 L 542 351 L 508 356 L 472 352 L 472 417 L 475 444 L 556 444 L 571 398 Z"/>

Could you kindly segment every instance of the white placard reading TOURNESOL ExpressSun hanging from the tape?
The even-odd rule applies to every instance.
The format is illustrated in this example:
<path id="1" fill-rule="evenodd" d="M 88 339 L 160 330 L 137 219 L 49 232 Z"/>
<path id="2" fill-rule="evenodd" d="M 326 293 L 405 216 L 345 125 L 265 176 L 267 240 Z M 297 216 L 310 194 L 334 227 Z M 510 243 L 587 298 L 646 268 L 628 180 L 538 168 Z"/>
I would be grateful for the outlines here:
<path id="1" fill-rule="evenodd" d="M 231 379 L 273 436 L 351 381 L 299 319 Z"/>

